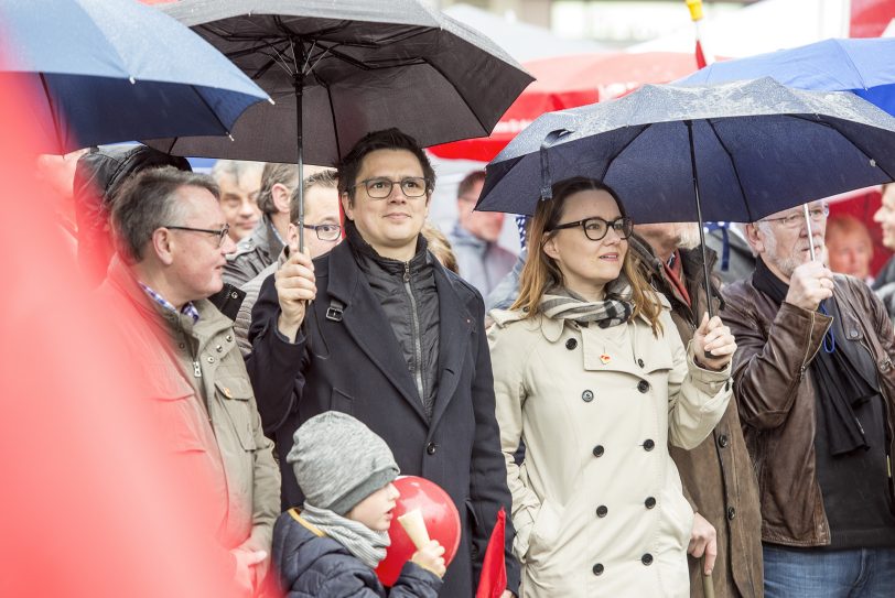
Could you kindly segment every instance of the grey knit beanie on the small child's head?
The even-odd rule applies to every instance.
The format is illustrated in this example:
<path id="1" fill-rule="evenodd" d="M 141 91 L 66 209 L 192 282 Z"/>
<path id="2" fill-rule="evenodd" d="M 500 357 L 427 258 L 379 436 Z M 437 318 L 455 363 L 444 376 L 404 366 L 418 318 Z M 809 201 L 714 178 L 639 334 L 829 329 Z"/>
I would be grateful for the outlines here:
<path id="1" fill-rule="evenodd" d="M 287 463 L 305 500 L 338 515 L 398 477 L 386 442 L 346 413 L 327 411 L 304 422 Z"/>

